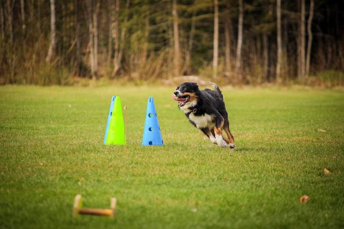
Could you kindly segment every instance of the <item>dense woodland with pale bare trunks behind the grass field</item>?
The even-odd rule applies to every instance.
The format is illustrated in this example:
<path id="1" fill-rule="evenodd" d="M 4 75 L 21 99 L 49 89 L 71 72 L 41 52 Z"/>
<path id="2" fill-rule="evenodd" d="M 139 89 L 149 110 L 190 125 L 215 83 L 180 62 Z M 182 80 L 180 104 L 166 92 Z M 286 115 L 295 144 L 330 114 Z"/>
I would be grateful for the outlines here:
<path id="1" fill-rule="evenodd" d="M 0 84 L 344 84 L 340 0 L 0 0 Z"/>

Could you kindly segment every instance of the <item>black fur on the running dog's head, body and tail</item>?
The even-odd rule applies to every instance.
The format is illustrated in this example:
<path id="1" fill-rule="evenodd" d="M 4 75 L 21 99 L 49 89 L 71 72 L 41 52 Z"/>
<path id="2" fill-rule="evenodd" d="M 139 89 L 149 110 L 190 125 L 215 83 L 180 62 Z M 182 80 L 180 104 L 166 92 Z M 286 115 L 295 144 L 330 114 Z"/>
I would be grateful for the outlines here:
<path id="1" fill-rule="evenodd" d="M 229 121 L 228 121 L 228 113 L 226 111 L 225 102 L 223 101 L 223 95 L 221 90 L 219 89 L 218 85 L 215 83 L 211 83 L 215 90 L 205 89 L 199 90 L 197 83 L 193 82 L 185 82 L 180 84 L 177 91 L 180 91 L 181 94 L 184 93 L 195 93 L 197 96 L 196 104 L 190 106 L 188 109 L 185 107 L 179 107 L 181 110 L 184 110 L 186 117 L 189 118 L 191 124 L 195 127 L 196 123 L 190 120 L 190 114 L 193 113 L 194 116 L 202 116 L 204 114 L 208 114 L 213 117 L 213 122 L 216 128 L 221 128 L 221 124 L 223 122 L 223 129 L 228 130 L 230 137 L 233 139 L 234 144 L 234 137 L 230 133 L 229 130 Z M 184 105 L 185 106 L 185 105 Z M 211 134 L 215 136 L 214 128 L 199 128 L 206 136 L 209 137 L 209 129 Z M 229 138 L 229 136 L 228 136 Z M 231 147 L 234 148 L 234 147 Z"/>

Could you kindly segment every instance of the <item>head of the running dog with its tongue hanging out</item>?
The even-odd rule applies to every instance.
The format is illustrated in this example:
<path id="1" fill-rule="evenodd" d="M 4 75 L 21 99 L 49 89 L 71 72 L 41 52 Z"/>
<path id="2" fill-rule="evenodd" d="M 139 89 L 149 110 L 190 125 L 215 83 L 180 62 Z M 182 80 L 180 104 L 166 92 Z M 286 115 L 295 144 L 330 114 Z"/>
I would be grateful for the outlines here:
<path id="1" fill-rule="evenodd" d="M 195 102 L 197 93 L 200 92 L 197 83 L 185 82 L 180 84 L 172 94 L 172 99 L 178 101 L 178 105 L 184 106 L 188 102 Z"/>

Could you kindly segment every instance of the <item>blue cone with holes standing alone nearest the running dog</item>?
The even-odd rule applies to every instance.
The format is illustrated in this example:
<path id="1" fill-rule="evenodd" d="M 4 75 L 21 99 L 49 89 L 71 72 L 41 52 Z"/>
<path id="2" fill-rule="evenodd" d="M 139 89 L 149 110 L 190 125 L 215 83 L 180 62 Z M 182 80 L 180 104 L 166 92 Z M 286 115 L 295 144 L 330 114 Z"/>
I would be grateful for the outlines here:
<path id="1" fill-rule="evenodd" d="M 163 144 L 158 116 L 153 97 L 148 98 L 146 121 L 144 122 L 142 146 L 161 146 Z"/>

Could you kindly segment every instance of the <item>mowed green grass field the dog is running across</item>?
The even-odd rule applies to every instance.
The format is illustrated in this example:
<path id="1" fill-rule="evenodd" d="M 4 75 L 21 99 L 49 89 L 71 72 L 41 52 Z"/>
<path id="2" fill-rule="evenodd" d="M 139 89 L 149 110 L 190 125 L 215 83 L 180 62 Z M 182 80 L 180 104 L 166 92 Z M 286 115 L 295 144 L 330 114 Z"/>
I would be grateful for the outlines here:
<path id="1" fill-rule="evenodd" d="M 0 227 L 344 227 L 343 91 L 222 88 L 229 150 L 189 124 L 174 89 L 0 87 Z M 128 107 L 126 150 L 103 145 L 112 95 Z M 141 146 L 148 96 L 160 147 Z M 117 197 L 116 217 L 72 218 L 78 193 L 84 207 Z"/>

